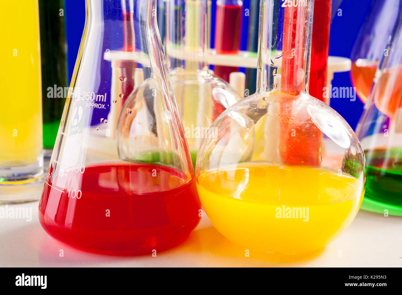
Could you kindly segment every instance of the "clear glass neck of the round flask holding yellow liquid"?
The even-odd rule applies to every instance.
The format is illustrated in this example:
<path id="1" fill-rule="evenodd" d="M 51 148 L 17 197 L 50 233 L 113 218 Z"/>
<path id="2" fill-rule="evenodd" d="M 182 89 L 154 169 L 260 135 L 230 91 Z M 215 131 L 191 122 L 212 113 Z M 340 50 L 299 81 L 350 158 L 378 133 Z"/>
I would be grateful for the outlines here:
<path id="1" fill-rule="evenodd" d="M 286 4 L 286 5 L 285 5 Z M 314 0 L 261 0 L 257 93 L 306 93 Z"/>

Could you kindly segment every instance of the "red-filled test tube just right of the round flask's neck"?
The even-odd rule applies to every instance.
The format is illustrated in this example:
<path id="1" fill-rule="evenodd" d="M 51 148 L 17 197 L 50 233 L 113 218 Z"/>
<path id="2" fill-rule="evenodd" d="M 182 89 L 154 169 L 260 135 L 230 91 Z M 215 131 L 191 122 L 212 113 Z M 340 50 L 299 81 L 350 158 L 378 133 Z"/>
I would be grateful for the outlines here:
<path id="1" fill-rule="evenodd" d="M 332 0 L 314 1 L 313 36 L 311 42 L 310 86 L 311 96 L 330 104 L 325 95 L 328 76 L 329 32 Z"/>

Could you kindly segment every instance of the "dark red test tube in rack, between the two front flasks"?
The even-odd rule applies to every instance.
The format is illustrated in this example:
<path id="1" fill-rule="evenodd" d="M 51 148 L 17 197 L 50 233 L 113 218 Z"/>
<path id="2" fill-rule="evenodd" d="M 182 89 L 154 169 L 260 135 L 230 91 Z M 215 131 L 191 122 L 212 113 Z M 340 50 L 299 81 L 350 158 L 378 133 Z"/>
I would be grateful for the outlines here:
<path id="1" fill-rule="evenodd" d="M 237 54 L 242 40 L 242 0 L 217 0 L 215 20 L 215 51 L 218 54 Z M 215 65 L 215 75 L 229 81 L 229 75 L 238 67 Z"/>

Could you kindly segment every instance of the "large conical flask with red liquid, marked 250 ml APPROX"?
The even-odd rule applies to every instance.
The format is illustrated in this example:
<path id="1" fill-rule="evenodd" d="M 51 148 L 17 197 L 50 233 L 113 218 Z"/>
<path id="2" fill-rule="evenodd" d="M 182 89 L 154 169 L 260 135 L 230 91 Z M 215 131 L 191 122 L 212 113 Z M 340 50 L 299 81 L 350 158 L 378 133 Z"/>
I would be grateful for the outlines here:
<path id="1" fill-rule="evenodd" d="M 200 220 L 155 9 L 155 0 L 86 1 L 73 91 L 39 203 L 47 233 L 76 248 L 160 251 Z"/>

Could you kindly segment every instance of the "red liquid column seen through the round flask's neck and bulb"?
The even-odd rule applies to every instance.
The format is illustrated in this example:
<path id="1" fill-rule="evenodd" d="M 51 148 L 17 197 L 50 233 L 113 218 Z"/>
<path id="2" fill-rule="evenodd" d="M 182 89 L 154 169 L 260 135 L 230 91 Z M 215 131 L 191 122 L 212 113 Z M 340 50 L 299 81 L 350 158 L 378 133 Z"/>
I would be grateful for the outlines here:
<path id="1" fill-rule="evenodd" d="M 319 166 L 321 131 L 308 115 L 308 104 L 295 97 L 304 92 L 304 81 L 299 79 L 298 73 L 304 69 L 304 42 L 301 40 L 306 35 L 303 30 L 307 13 L 306 6 L 286 7 L 284 11 L 279 150 L 287 164 Z"/>

